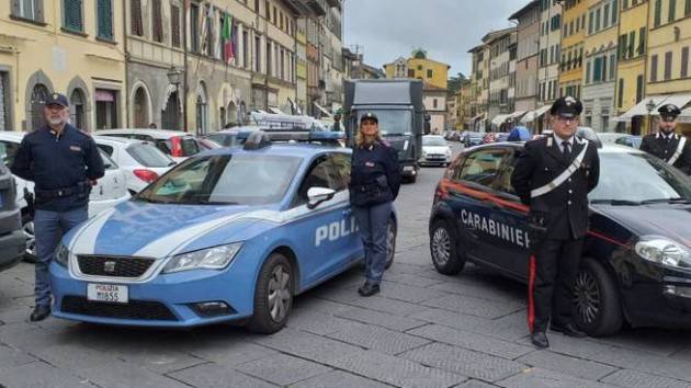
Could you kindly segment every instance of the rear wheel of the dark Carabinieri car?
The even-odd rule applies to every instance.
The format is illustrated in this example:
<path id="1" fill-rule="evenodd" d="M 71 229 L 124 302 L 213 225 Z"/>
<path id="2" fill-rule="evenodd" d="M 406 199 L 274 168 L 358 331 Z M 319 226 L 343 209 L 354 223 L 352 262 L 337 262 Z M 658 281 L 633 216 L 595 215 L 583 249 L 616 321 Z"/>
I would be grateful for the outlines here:
<path id="1" fill-rule="evenodd" d="M 449 222 L 438 219 L 432 224 L 430 238 L 432 263 L 439 273 L 455 275 L 463 270 L 465 258 L 458 256 L 456 237 Z"/>

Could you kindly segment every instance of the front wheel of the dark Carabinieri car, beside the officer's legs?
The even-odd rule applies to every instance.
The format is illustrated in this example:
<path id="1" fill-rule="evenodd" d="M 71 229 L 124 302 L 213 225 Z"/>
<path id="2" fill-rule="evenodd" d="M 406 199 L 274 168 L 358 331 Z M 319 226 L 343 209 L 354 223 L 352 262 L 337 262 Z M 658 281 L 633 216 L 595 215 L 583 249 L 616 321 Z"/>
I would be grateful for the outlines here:
<path id="1" fill-rule="evenodd" d="M 616 333 L 624 323 L 619 293 L 604 266 L 585 259 L 574 282 L 576 324 L 592 336 Z"/>

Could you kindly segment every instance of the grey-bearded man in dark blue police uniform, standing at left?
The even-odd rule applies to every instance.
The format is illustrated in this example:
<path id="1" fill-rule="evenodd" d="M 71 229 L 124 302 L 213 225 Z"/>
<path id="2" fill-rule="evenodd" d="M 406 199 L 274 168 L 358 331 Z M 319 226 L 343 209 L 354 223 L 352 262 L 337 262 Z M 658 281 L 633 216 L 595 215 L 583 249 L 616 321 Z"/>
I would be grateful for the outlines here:
<path id="1" fill-rule="evenodd" d="M 93 139 L 68 124 L 69 104 L 63 94 L 45 101 L 47 125 L 24 137 L 12 173 L 35 183 L 36 307 L 30 319 L 50 315 L 48 265 L 58 239 L 87 220 L 90 186 L 103 176 L 103 161 Z"/>

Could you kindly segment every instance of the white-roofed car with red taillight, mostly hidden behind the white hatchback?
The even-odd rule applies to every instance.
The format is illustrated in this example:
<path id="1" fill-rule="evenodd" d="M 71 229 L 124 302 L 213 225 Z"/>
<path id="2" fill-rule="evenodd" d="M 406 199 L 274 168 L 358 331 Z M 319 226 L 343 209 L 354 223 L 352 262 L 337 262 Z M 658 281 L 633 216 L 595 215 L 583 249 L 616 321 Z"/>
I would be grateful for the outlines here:
<path id="1" fill-rule="evenodd" d="M 93 135 L 151 141 L 178 162 L 204 149 L 194 136 L 182 130 L 122 128 L 97 130 Z"/>

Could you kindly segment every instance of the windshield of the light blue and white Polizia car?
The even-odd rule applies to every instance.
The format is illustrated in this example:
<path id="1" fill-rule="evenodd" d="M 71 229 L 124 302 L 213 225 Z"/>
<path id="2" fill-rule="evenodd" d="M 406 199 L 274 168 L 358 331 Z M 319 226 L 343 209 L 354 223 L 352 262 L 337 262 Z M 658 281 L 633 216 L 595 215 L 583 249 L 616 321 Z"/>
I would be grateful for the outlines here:
<path id="1" fill-rule="evenodd" d="M 263 205 L 283 198 L 301 159 L 223 155 L 186 160 L 136 196 L 163 204 Z"/>

